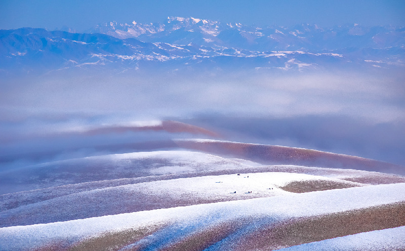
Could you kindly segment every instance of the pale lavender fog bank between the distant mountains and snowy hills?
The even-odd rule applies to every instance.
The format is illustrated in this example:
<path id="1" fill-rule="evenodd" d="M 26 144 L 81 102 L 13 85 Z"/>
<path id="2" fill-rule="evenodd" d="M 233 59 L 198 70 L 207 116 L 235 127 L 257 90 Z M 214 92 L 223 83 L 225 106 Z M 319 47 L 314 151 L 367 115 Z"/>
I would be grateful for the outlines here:
<path id="1" fill-rule="evenodd" d="M 223 140 L 303 147 L 404 165 L 404 79 L 403 73 L 388 70 L 141 75 L 71 71 L 3 78 L 0 170 L 171 148 L 167 141 L 172 138 L 210 138 L 164 130 L 84 133 L 168 119 L 217 132 Z"/>

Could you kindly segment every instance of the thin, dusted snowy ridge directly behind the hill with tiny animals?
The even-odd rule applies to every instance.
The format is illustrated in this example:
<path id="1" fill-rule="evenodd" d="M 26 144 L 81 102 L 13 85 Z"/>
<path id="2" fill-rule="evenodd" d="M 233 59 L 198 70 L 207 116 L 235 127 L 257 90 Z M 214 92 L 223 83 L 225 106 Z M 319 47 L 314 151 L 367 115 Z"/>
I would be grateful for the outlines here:
<path id="1" fill-rule="evenodd" d="M 234 160 L 234 159 L 233 159 Z M 5 194 L 0 196 L 0 211 L 5 211 L 11 208 L 16 208 L 21 205 L 32 204 L 40 201 L 45 201 L 53 199 L 56 197 L 66 196 L 69 194 L 80 193 L 83 191 L 90 191 L 95 189 L 112 188 L 117 186 L 124 186 L 130 184 L 145 183 L 151 181 L 159 180 L 173 180 L 179 178 L 193 178 L 193 177 L 203 177 L 203 176 L 217 176 L 217 175 L 229 175 L 229 174 L 240 174 L 240 173 L 266 173 L 266 172 L 276 172 L 276 173 L 292 173 L 292 174 L 306 174 L 310 176 L 321 176 L 325 178 L 339 179 L 340 181 L 352 181 L 354 183 L 363 185 L 377 185 L 377 184 L 392 184 L 405 182 L 405 179 L 390 176 L 382 173 L 367 172 L 359 170 L 348 170 L 348 169 L 330 169 L 330 168 L 313 168 L 306 166 L 296 166 L 296 165 L 273 165 L 273 166 L 263 166 L 256 163 L 251 163 L 248 161 L 236 160 L 241 163 L 248 163 L 251 167 L 240 166 L 235 168 L 233 166 L 231 169 L 225 170 L 212 170 L 212 171 L 201 171 L 201 172 L 191 172 L 191 173 L 174 173 L 169 175 L 158 175 L 158 176 L 147 176 L 139 178 L 123 178 L 115 180 L 104 180 L 96 182 L 86 182 L 71 185 L 64 185 L 59 187 L 50 187 L 43 189 L 36 189 L 31 191 L 23 191 L 13 194 Z M 217 182 L 217 181 L 216 181 Z M 278 182 L 278 181 L 277 181 Z M 268 184 L 268 183 L 266 183 Z M 221 184 L 223 185 L 223 184 Z M 257 184 L 259 185 L 259 184 Z M 268 184 L 269 185 L 269 184 Z M 250 190 L 250 189 L 248 189 Z M 274 190 L 275 192 L 276 190 Z M 228 191 L 226 191 L 228 192 Z M 257 192 L 257 190 L 256 190 Z M 243 195 L 243 194 L 242 194 Z M 252 196 L 254 194 L 250 194 Z M 233 195 L 232 195 L 233 196 Z M 238 194 L 239 196 L 239 194 Z"/>

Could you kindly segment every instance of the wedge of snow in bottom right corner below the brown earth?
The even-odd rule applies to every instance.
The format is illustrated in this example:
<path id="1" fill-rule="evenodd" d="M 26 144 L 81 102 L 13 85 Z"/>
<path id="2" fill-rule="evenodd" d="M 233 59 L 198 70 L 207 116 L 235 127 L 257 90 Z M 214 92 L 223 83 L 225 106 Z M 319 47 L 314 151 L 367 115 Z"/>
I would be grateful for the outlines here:
<path id="1" fill-rule="evenodd" d="M 333 239 L 291 246 L 278 250 L 282 251 L 379 251 L 404 250 L 405 226 L 376 230 Z"/>

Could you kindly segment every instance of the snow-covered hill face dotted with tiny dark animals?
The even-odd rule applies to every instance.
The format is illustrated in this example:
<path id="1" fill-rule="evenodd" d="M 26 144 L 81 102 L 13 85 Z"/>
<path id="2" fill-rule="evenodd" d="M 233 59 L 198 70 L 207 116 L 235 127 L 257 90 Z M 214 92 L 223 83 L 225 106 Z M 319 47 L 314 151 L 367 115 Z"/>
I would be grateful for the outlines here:
<path id="1" fill-rule="evenodd" d="M 183 202 L 177 205 L 192 205 L 271 197 L 290 194 L 290 192 L 278 187 L 293 181 L 309 180 L 334 181 L 353 186 L 363 186 L 359 183 L 322 176 L 277 172 L 180 178 L 73 193 L 0 212 L 0 218 L 4 218 L 5 221 L 10 218 L 19 218 L 20 221 L 13 225 L 29 225 L 174 207 L 176 205 L 172 201 L 176 203 L 178 200 Z M 104 206 L 99 208 L 100 205 Z M 128 206 L 139 209 L 123 211 L 123 208 Z M 44 208 L 47 211 L 45 215 L 42 213 Z M 99 209 L 95 210 L 95 208 Z M 29 216 L 26 216 L 27 214 Z"/>

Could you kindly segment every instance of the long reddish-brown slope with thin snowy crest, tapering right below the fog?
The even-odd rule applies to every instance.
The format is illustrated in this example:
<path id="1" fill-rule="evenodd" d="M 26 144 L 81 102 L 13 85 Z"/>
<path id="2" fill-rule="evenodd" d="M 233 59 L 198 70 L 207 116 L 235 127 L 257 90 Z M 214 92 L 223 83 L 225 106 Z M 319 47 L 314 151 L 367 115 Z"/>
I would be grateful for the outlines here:
<path id="1" fill-rule="evenodd" d="M 374 159 L 295 147 L 216 140 L 176 140 L 179 147 L 248 159 L 263 164 L 294 164 L 405 175 L 405 167 Z"/>

